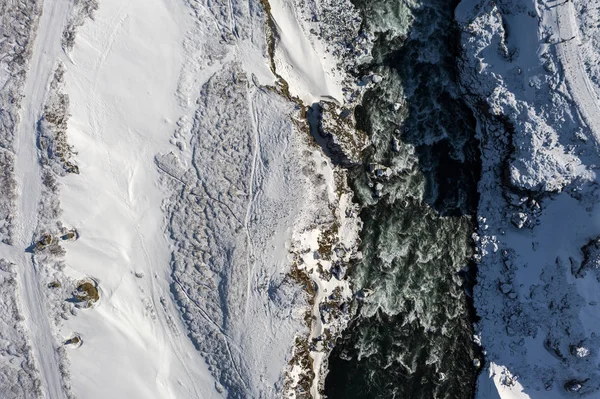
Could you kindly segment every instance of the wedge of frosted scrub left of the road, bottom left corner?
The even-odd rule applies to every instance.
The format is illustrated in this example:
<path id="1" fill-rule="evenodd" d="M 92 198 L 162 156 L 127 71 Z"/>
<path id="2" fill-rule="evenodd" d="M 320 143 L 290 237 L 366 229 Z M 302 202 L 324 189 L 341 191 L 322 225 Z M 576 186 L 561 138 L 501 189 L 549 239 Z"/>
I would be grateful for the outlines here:
<path id="1" fill-rule="evenodd" d="M 41 397 L 32 343 L 17 299 L 15 269 L 15 264 L 0 259 L 0 396 L 6 399 Z"/>

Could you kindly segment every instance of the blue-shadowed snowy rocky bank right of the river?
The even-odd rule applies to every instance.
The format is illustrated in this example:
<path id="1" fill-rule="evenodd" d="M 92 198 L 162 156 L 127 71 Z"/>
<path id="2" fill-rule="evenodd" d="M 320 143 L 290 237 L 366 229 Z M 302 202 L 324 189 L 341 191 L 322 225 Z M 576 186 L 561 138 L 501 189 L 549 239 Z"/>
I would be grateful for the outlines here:
<path id="1" fill-rule="evenodd" d="M 573 84 L 577 58 L 561 58 L 569 40 L 556 25 L 563 6 L 571 7 L 464 0 L 456 11 L 482 152 L 473 236 L 475 339 L 487 360 L 481 398 L 600 389 L 598 126 L 584 117 L 585 87 Z"/>

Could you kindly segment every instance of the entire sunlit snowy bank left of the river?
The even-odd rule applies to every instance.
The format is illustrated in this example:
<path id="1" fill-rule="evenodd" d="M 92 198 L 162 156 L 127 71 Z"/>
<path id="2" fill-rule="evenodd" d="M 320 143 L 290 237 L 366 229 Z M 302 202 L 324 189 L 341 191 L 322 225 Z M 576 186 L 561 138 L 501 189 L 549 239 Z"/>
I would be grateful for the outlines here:
<path id="1" fill-rule="evenodd" d="M 335 71 L 347 37 L 305 25 L 334 23 L 320 13 L 337 5 L 45 0 L 39 26 L 20 14 L 28 71 L 2 75 L 22 94 L 0 143 L 2 397 L 320 397 L 326 340 L 349 318 L 331 309 L 352 296 L 332 268 L 357 256 L 359 229 L 305 117 L 357 93 Z"/>

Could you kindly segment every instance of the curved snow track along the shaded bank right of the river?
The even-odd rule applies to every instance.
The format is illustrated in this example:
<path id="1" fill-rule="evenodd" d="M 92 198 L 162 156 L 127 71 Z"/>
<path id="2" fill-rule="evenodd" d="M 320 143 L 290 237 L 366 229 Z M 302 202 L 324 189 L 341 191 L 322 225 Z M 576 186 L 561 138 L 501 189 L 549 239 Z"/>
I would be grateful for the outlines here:
<path id="1" fill-rule="evenodd" d="M 567 87 L 596 143 L 600 145 L 600 99 L 579 57 L 579 28 L 572 1 L 553 6 L 552 13 L 558 25 L 559 43 L 556 47 Z"/>

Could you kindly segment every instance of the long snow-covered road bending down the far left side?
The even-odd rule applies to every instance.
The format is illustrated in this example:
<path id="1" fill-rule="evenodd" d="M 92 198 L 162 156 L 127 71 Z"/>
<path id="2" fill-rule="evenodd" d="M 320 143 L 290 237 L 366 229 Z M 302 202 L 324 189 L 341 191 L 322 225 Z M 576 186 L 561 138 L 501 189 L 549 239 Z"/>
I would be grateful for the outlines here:
<path id="1" fill-rule="evenodd" d="M 39 368 L 42 387 L 47 398 L 64 397 L 62 377 L 55 341 L 47 317 L 33 255 L 25 252 L 35 242 L 38 206 L 41 198 L 41 167 L 36 132 L 42 117 L 50 79 L 61 48 L 62 33 L 71 10 L 68 0 L 45 0 L 33 46 L 29 71 L 23 91 L 23 106 L 17 129 L 16 174 L 19 187 L 15 228 L 15 244 L 10 248 L 17 270 L 23 313 L 28 326 L 32 351 Z"/>

